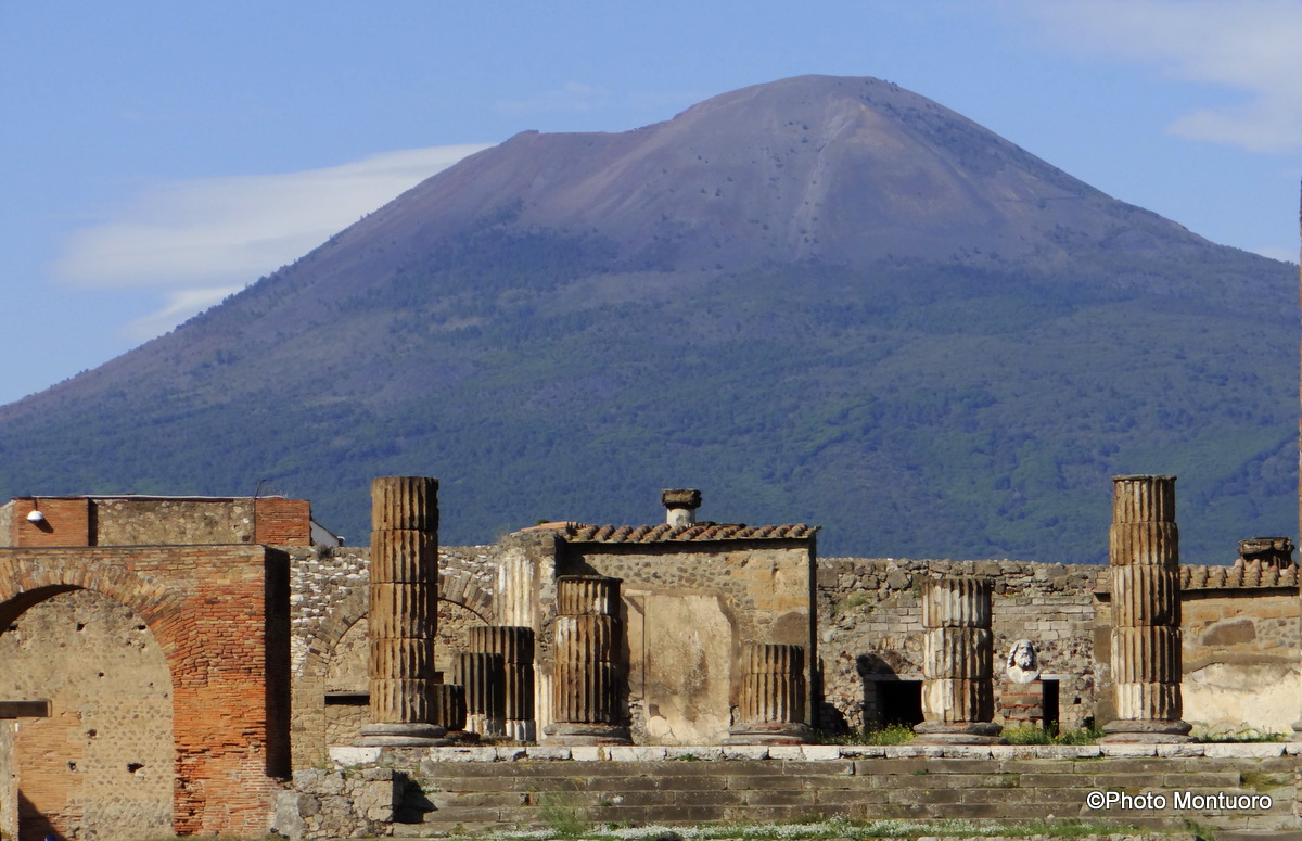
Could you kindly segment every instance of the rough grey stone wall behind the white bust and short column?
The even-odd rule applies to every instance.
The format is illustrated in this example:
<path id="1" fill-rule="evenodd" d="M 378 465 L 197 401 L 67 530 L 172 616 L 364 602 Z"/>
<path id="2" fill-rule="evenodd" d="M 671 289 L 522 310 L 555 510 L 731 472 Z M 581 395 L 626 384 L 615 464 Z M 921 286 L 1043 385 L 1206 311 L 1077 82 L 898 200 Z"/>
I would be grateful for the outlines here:
<path id="1" fill-rule="evenodd" d="M 1094 716 L 1094 590 L 1107 572 L 1025 561 L 820 558 L 820 725 L 872 726 L 883 712 L 883 682 L 922 680 L 922 582 L 962 574 L 995 583 L 996 720 L 1003 659 L 1027 638 L 1039 647 L 1044 676 L 1059 681 L 1061 726 L 1082 726 Z"/>

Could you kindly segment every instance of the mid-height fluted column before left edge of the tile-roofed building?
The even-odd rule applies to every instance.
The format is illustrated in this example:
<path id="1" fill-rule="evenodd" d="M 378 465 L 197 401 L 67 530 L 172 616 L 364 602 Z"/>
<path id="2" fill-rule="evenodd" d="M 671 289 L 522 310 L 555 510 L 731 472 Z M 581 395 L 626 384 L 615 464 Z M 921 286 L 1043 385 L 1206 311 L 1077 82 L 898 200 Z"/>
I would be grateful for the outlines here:
<path id="1" fill-rule="evenodd" d="M 547 741 L 628 745 L 621 703 L 624 626 L 620 579 L 561 575 L 556 581 L 556 663 Z"/>

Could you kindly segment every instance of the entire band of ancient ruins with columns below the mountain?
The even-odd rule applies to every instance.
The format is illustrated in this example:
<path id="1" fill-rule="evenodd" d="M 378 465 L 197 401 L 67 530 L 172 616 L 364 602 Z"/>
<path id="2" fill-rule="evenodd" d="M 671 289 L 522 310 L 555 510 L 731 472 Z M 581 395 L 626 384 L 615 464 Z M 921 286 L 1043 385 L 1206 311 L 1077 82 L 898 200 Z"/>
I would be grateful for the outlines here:
<path id="1" fill-rule="evenodd" d="M 381 478 L 372 544 L 357 549 L 331 545 L 296 500 L 16 500 L 0 508 L 0 655 L 14 664 L 0 687 L 0 833 L 81 827 L 116 841 L 273 825 L 310 840 L 402 821 L 529 823 L 536 803 L 518 794 L 467 806 L 499 802 L 474 781 L 512 762 L 522 792 L 566 790 L 565 758 L 642 763 L 668 780 L 678 755 L 719 763 L 717 792 L 664 782 L 633 805 L 594 789 L 592 814 L 871 816 L 888 801 L 858 788 L 862 773 L 904 775 L 891 802 L 939 815 L 905 765 L 872 752 L 883 749 L 811 742 L 902 723 L 919 736 L 900 756 L 962 773 L 947 763 L 970 751 L 1001 767 L 1001 726 L 1107 723 L 1122 743 L 1035 749 L 1064 788 L 1043 803 L 1022 797 L 1009 816 L 1059 814 L 1064 792 L 1081 799 L 1072 786 L 1086 785 L 1062 751 L 1124 763 L 1131 754 L 1108 751 L 1184 742 L 1176 703 L 1204 723 L 1286 730 L 1297 719 L 1292 542 L 1245 540 L 1236 566 L 1180 566 L 1170 491 L 1167 478 L 1118 478 L 1108 568 L 818 558 L 816 529 L 700 522 L 691 489 L 661 495 L 659 525 L 547 523 L 491 547 L 439 547 L 437 483 Z M 254 543 L 268 538 L 280 548 Z M 142 539 L 154 544 L 113 545 Z M 246 603 L 264 612 L 223 618 Z M 60 646 L 73 660 L 55 659 Z M 229 726 L 208 715 L 215 698 L 238 713 Z M 1185 751 L 1173 785 L 1228 750 L 1169 747 Z M 1294 762 L 1284 745 L 1234 750 L 1262 779 Z M 440 776 L 437 751 L 474 762 Z M 802 773 L 822 763 L 822 788 L 767 794 L 788 762 Z M 974 812 L 1001 814 L 1006 790 L 963 785 Z M 1292 825 L 1288 786 L 1269 789 L 1256 824 L 1210 819 Z"/>

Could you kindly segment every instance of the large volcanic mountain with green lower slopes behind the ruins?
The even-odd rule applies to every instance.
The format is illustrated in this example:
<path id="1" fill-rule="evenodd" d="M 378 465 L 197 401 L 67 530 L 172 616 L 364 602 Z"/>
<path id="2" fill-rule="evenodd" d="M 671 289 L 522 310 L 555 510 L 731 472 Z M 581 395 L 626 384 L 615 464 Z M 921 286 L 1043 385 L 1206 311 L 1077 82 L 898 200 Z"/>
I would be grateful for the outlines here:
<path id="1" fill-rule="evenodd" d="M 1297 269 L 917 94 L 798 77 L 521 133 L 221 305 L 0 407 L 0 499 L 250 493 L 353 540 L 540 518 L 818 523 L 822 552 L 1099 561 L 1173 473 L 1185 560 L 1295 532 Z"/>

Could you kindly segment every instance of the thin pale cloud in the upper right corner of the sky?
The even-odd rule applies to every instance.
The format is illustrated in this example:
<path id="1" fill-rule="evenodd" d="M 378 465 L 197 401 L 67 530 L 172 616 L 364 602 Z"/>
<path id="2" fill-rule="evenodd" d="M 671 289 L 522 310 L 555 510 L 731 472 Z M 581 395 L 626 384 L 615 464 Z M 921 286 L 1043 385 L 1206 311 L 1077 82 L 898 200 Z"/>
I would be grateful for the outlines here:
<path id="1" fill-rule="evenodd" d="M 1298 0 L 1022 0 L 1060 46 L 1157 68 L 1168 78 L 1240 91 L 1182 115 L 1170 131 L 1256 152 L 1302 148 Z"/>

